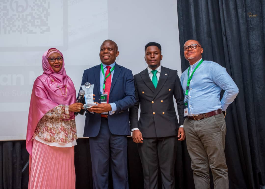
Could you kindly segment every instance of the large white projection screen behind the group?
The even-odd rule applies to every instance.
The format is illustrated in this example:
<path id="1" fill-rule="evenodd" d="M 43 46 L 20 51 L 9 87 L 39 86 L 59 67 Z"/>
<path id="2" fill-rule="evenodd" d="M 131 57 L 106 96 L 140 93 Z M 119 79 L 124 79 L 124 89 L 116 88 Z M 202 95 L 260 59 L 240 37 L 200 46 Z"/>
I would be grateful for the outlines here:
<path id="1" fill-rule="evenodd" d="M 80 88 L 85 69 L 100 64 L 105 39 L 118 44 L 116 61 L 137 74 L 147 67 L 144 46 L 162 46 L 165 67 L 181 74 L 175 0 L 4 0 L 0 1 L 0 140 L 25 140 L 34 80 L 42 55 L 58 48 L 66 73 Z M 78 137 L 85 116 L 76 117 Z"/>

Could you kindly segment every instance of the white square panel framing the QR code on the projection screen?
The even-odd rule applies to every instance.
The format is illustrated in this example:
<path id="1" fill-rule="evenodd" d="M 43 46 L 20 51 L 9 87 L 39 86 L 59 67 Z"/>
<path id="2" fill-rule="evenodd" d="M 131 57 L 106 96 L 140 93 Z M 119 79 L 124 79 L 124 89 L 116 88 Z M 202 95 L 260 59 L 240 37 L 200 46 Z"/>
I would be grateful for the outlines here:
<path id="1" fill-rule="evenodd" d="M 67 1 L 0 1 L 0 51 L 67 49 L 67 11 Z"/>

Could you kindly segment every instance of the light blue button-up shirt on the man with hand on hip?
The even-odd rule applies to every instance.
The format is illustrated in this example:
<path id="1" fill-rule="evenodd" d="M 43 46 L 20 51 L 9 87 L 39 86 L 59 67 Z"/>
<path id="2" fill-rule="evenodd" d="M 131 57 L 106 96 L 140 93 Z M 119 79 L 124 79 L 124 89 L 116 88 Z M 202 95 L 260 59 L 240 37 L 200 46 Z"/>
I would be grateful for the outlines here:
<path id="1" fill-rule="evenodd" d="M 201 59 L 193 65 L 190 65 L 189 77 Z M 188 69 L 185 70 L 180 82 L 183 93 L 188 81 Z M 220 92 L 224 90 L 224 95 L 220 101 Z M 216 62 L 204 60 L 196 69 L 189 85 L 188 96 L 188 114 L 189 116 L 208 113 L 221 109 L 226 111 L 238 94 L 238 88 L 229 76 L 226 69 Z"/>

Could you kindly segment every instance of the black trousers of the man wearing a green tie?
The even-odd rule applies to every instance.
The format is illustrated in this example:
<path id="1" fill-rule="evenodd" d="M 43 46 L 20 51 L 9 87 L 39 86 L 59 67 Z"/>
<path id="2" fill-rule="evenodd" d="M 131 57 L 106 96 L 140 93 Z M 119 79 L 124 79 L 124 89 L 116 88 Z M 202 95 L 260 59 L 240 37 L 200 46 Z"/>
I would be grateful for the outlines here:
<path id="1" fill-rule="evenodd" d="M 174 167 L 177 136 L 144 138 L 138 151 L 144 172 L 144 188 L 158 188 L 158 169 L 161 171 L 162 188 L 175 188 Z"/>

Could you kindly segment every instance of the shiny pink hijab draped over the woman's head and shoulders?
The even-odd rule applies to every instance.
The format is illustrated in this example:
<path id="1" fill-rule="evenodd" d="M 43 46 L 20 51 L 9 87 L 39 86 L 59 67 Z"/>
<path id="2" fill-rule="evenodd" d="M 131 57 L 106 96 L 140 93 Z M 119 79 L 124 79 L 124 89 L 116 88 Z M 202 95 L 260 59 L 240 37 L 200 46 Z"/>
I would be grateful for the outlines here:
<path id="1" fill-rule="evenodd" d="M 32 136 L 39 120 L 52 108 L 60 104 L 71 105 L 76 101 L 76 90 L 72 80 L 66 75 L 64 59 L 62 68 L 57 73 L 54 72 L 48 62 L 48 57 L 54 52 L 58 52 L 63 57 L 63 54 L 56 48 L 47 50 L 42 55 L 42 69 L 44 72 L 37 77 L 33 84 L 26 137 L 26 148 L 30 156 L 32 156 Z M 62 91 L 57 87 L 58 85 Z M 67 86 L 67 97 L 62 95 L 62 92 L 65 93 L 65 85 Z M 74 113 L 70 112 L 69 119 L 74 118 Z"/>

